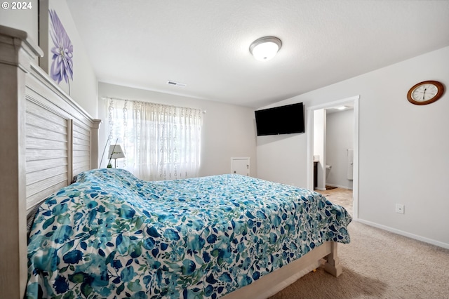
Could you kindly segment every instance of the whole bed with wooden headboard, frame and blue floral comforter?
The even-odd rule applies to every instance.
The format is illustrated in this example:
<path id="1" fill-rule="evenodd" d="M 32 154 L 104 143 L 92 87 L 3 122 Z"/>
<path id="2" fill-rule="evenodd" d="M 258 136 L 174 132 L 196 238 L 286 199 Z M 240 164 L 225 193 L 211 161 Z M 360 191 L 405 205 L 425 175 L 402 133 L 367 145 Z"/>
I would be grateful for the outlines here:
<path id="1" fill-rule="evenodd" d="M 96 169 L 100 121 L 36 65 L 39 55 L 26 32 L 0 26 L 6 298 L 39 297 L 39 288 L 60 298 L 70 291 L 81 298 L 267 298 L 323 259 L 328 272 L 342 272 L 337 243 L 349 242 L 351 218 L 315 192 L 239 175 L 142 182 Z M 216 184 L 234 189 L 217 192 Z M 281 194 L 290 201 L 281 203 Z M 172 211 L 175 202 L 181 206 Z M 27 216 L 36 206 L 27 239 Z M 180 211 L 199 218 L 181 221 Z"/>

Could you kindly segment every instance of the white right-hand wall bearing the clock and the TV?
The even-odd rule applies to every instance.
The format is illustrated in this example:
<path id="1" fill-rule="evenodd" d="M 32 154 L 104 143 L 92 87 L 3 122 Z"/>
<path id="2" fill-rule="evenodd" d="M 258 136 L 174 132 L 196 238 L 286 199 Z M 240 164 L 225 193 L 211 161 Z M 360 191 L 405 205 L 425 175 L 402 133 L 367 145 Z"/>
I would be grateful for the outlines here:
<path id="1" fill-rule="evenodd" d="M 361 222 L 449 248 L 449 93 L 424 106 L 408 102 L 409 88 L 438 80 L 449 86 L 449 47 L 278 102 L 305 107 L 360 95 L 358 218 Z M 257 140 L 260 177 L 307 186 L 307 131 L 289 145 Z M 283 155 L 284 163 L 273 160 Z M 281 173 L 281 175 L 271 175 Z M 405 214 L 395 204 L 405 204 Z"/>

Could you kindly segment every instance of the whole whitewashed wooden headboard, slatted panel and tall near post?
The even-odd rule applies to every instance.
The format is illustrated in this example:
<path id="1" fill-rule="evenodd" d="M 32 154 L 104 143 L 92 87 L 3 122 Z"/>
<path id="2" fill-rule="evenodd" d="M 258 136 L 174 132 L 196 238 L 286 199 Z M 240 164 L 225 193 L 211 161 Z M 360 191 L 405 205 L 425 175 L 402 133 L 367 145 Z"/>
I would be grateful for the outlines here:
<path id="1" fill-rule="evenodd" d="M 0 293 L 23 298 L 27 214 L 98 167 L 98 127 L 36 65 L 42 51 L 26 32 L 0 26 Z M 97 99 L 92 99 L 97 100 Z"/>

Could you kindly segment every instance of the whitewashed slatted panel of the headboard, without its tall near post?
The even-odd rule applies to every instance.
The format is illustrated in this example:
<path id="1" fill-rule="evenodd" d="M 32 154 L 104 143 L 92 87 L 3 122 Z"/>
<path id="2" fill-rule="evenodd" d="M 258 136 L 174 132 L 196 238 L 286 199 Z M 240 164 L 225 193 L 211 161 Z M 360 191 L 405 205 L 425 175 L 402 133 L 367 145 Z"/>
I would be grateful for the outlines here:
<path id="1" fill-rule="evenodd" d="M 100 121 L 92 119 L 36 65 L 25 77 L 27 211 L 98 167 Z"/>

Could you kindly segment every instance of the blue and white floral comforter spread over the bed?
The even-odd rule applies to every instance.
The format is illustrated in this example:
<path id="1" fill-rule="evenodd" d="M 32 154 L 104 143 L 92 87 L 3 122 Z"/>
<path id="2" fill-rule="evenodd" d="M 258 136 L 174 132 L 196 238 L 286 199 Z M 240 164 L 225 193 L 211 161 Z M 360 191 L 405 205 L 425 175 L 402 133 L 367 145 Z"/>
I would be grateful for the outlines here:
<path id="1" fill-rule="evenodd" d="M 242 175 L 87 171 L 36 214 L 27 298 L 218 298 L 324 241 L 349 243 L 349 222 L 321 194 Z"/>

